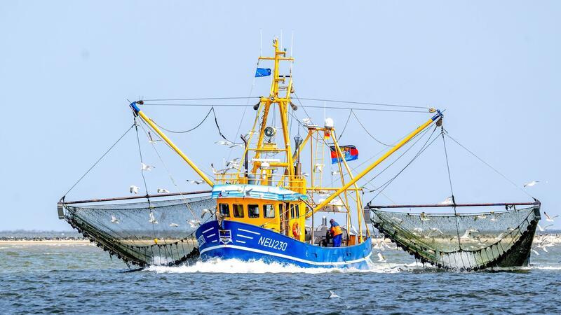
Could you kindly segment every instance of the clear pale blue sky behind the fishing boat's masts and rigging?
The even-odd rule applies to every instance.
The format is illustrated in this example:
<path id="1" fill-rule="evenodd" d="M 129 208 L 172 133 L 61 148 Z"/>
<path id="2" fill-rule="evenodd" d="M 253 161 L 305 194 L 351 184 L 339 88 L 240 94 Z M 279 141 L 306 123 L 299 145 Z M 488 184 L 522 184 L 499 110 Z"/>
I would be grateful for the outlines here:
<path id="1" fill-rule="evenodd" d="M 1 1 L 0 230 L 70 229 L 58 220 L 56 203 L 132 125 L 127 99 L 268 94 L 269 79 L 253 74 L 259 52 L 269 55 L 271 40 L 281 34 L 296 59 L 298 97 L 445 110 L 450 136 L 509 179 L 448 140 L 457 202 L 533 196 L 548 214 L 561 214 L 559 16 L 559 1 Z M 323 102 L 302 105 L 299 119 L 323 121 L 323 109 L 306 109 Z M 251 107 L 215 109 L 229 138 L 240 124 L 248 131 L 255 118 Z M 168 129 L 188 130 L 208 106 L 144 111 Z M 325 116 L 339 133 L 345 130 L 341 144 L 358 147 L 359 160 L 350 165 L 358 170 L 387 149 L 358 121 L 376 139 L 393 143 L 431 116 L 353 111 L 360 120 L 351 116 L 346 124 L 349 113 L 328 109 Z M 220 137 L 212 119 L 170 138 L 205 172 L 211 162 L 222 165 L 241 153 L 214 144 Z M 133 184 L 144 190 L 136 141 L 129 132 L 67 200 L 130 195 Z M 187 183 L 196 176 L 177 155 L 158 148 L 163 165 L 145 136 L 141 141 L 144 160 L 156 166 L 146 174 L 150 193 L 171 188 L 170 174 L 181 190 L 206 189 Z M 391 179 L 411 158 L 404 155 L 372 185 Z M 522 188 L 529 181 L 540 182 Z M 450 196 L 442 141 L 384 194 L 373 203 Z M 365 202 L 374 195 L 365 194 Z M 561 219 L 553 224 L 561 228 Z"/>

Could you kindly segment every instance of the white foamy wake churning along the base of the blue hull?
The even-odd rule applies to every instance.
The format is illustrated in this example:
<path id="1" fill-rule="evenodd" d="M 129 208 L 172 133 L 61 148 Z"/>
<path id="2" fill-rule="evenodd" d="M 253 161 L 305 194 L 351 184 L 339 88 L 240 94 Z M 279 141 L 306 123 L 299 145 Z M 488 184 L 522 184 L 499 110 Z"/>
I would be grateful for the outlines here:
<path id="1" fill-rule="evenodd" d="M 323 274 L 329 272 L 377 272 L 396 273 L 411 269 L 422 268 L 415 263 L 391 264 L 370 262 L 369 269 L 354 268 L 304 268 L 296 265 L 285 265 L 279 262 L 264 262 L 263 260 L 243 261 L 238 259 L 213 259 L 205 262 L 198 261 L 193 265 L 181 265 L 175 267 L 151 266 L 146 270 L 157 273 L 224 273 L 224 274 L 266 274 L 266 273 L 305 273 Z"/>

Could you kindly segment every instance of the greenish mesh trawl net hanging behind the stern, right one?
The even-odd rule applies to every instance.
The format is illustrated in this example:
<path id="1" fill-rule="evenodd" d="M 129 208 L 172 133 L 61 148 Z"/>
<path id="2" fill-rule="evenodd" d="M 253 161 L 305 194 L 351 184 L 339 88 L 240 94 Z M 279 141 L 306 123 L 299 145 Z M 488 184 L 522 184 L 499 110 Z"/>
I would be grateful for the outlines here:
<path id="1" fill-rule="evenodd" d="M 372 223 L 421 262 L 450 269 L 527 265 L 539 207 L 479 214 L 374 209 Z"/>

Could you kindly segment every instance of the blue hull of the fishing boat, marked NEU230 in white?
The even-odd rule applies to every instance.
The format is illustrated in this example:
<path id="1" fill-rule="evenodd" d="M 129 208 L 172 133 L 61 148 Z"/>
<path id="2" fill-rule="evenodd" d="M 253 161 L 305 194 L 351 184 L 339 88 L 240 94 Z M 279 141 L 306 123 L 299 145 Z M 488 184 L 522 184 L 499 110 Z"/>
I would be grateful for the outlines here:
<path id="1" fill-rule="evenodd" d="M 201 260 L 212 258 L 263 260 L 299 267 L 368 269 L 370 238 L 346 247 L 320 247 L 297 241 L 255 225 L 234 221 L 210 221 L 196 231 Z"/>

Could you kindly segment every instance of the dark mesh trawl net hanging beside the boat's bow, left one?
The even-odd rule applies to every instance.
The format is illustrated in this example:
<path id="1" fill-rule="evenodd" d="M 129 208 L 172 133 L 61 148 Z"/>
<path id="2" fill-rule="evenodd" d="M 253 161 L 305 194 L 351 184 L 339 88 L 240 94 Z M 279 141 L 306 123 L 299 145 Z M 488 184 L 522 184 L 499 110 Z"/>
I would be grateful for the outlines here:
<path id="1" fill-rule="evenodd" d="M 198 258 L 194 233 L 211 218 L 215 203 L 204 196 L 62 207 L 65 220 L 84 237 L 127 264 L 146 266 L 177 265 Z"/>

